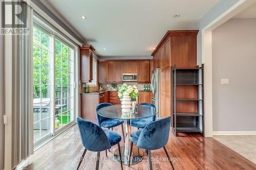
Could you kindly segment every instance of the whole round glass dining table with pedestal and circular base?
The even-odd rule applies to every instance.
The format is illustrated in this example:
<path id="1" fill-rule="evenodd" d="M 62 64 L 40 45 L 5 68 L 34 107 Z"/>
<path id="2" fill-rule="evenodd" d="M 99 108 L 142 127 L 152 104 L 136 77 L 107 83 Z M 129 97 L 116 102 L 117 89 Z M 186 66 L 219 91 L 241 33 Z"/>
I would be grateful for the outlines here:
<path id="1" fill-rule="evenodd" d="M 130 140 L 130 135 L 132 130 L 131 121 L 133 119 L 152 117 L 158 114 L 158 111 L 156 110 L 156 108 L 151 106 L 136 105 L 136 107 L 134 109 L 131 109 L 129 113 L 124 114 L 122 113 L 121 105 L 113 105 L 113 106 L 103 107 L 99 109 L 97 113 L 103 117 L 124 120 L 126 137 L 125 137 L 124 145 L 121 147 L 122 158 L 120 159 L 118 150 L 116 149 L 114 152 L 114 159 L 119 163 L 120 163 L 120 160 L 122 160 L 123 165 L 128 165 L 129 155 L 130 155 L 130 146 L 131 146 L 131 140 Z M 136 147 L 136 144 L 134 144 L 133 152 L 131 156 L 131 165 L 140 162 L 143 156 L 144 154 L 142 150 L 138 149 Z"/>

